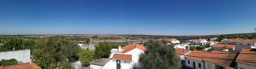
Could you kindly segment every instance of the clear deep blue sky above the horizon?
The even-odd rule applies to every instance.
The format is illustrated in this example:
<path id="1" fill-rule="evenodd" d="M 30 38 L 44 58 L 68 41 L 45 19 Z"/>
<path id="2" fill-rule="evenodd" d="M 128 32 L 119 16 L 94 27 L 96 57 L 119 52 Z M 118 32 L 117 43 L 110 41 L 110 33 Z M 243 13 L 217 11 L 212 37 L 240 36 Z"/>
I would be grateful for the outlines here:
<path id="1" fill-rule="evenodd" d="M 0 34 L 251 33 L 256 0 L 1 0 Z"/>

